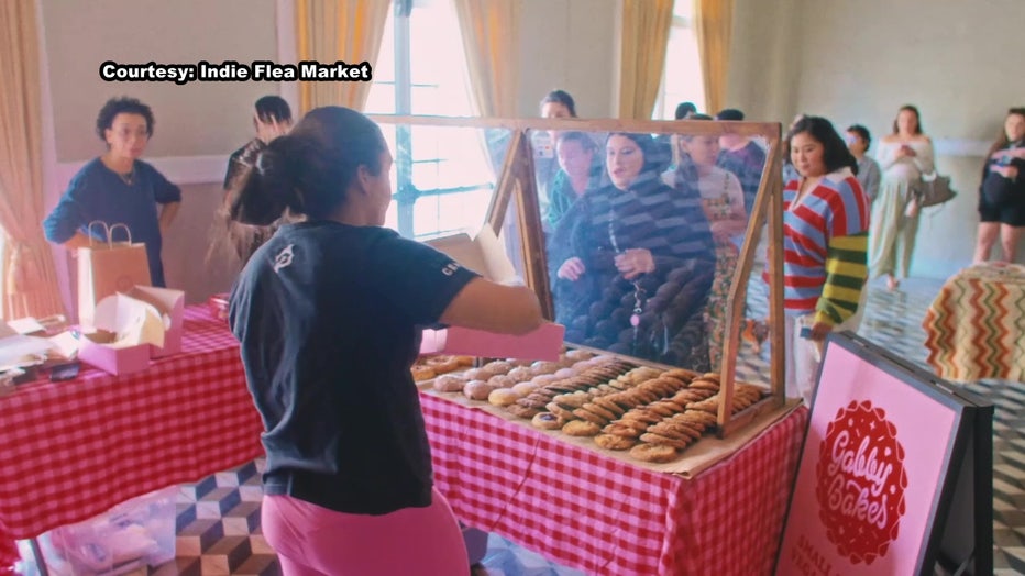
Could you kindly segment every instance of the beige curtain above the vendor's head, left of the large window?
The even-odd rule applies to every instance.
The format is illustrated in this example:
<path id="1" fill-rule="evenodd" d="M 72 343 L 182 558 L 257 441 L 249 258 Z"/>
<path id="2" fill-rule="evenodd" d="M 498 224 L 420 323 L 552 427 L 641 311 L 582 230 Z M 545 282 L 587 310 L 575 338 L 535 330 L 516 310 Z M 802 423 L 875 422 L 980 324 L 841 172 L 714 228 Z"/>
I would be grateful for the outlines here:
<path id="1" fill-rule="evenodd" d="M 390 0 L 297 0 L 299 62 L 377 63 Z M 299 113 L 321 106 L 363 110 L 371 82 L 299 82 Z"/>

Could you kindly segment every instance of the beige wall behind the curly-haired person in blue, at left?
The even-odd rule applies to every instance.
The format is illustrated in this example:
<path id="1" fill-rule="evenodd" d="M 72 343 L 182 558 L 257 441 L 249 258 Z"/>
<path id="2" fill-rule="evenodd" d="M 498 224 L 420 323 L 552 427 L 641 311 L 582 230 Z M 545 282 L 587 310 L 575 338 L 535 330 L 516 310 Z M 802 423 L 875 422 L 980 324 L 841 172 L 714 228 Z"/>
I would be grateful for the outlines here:
<path id="1" fill-rule="evenodd" d="M 230 287 L 232 272 L 205 255 L 220 203 L 222 159 L 253 136 L 252 104 L 279 93 L 278 82 L 107 82 L 104 60 L 195 64 L 277 60 L 275 0 L 37 0 L 43 30 L 43 101 L 48 212 L 70 176 L 103 152 L 96 114 L 114 96 L 150 104 L 156 122 L 146 158 L 181 185 L 183 206 L 164 242 L 168 285 L 189 302 Z M 70 298 L 66 251 L 57 248 L 65 302 Z M 74 266 L 71 266 L 74 267 Z"/>

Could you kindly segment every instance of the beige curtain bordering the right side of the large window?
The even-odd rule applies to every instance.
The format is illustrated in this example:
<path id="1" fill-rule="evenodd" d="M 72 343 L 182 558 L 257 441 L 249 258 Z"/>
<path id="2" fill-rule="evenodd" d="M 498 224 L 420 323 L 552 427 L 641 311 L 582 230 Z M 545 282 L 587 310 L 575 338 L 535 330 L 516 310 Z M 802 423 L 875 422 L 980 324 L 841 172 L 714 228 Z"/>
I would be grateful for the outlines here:
<path id="1" fill-rule="evenodd" d="M 454 0 L 474 102 L 482 117 L 515 118 L 522 0 Z"/>

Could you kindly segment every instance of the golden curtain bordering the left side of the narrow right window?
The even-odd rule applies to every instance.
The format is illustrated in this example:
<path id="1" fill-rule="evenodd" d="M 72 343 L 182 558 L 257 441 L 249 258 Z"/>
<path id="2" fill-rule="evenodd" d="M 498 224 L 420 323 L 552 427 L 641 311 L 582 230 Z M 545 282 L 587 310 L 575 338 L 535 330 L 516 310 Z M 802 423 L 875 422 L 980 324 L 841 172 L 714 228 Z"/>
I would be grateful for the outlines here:
<path id="1" fill-rule="evenodd" d="M 622 0 L 619 118 L 651 120 L 672 24 L 673 0 Z"/>

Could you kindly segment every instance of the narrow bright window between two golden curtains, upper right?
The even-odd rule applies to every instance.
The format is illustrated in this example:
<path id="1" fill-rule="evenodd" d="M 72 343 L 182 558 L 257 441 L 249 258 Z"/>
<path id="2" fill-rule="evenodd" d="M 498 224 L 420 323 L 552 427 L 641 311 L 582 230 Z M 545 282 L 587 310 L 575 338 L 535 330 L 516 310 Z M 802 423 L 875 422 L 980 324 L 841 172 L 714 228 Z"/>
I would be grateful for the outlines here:
<path id="1" fill-rule="evenodd" d="M 694 102 L 698 112 L 705 111 L 705 84 L 697 53 L 697 34 L 694 32 L 693 0 L 673 2 L 673 24 L 665 47 L 662 88 L 651 118 L 673 120 L 680 102 Z M 713 114 L 716 112 L 710 111 Z"/>

